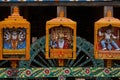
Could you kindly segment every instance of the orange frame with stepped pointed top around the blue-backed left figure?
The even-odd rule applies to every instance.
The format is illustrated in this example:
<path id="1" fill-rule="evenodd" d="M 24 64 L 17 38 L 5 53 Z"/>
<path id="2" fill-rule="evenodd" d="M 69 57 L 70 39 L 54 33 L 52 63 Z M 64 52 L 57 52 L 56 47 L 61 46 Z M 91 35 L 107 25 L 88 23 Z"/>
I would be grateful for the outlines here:
<path id="1" fill-rule="evenodd" d="M 26 29 L 26 49 L 25 49 L 25 58 L 3 58 L 3 28 L 25 28 Z M 14 8 L 14 12 L 8 18 L 5 18 L 4 21 L 0 22 L 0 60 L 29 60 L 30 59 L 30 23 L 23 19 L 19 15 L 19 10 L 17 7 Z M 20 50 L 11 50 L 11 55 L 17 54 Z M 9 52 L 9 51 L 8 51 Z M 20 53 L 19 53 L 20 54 Z"/>

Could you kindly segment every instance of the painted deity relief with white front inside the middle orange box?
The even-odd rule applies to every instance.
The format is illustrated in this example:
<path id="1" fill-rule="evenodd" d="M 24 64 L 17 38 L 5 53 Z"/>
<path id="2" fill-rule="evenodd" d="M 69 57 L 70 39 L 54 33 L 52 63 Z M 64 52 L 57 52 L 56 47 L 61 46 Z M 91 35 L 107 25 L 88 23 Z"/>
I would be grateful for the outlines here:
<path id="1" fill-rule="evenodd" d="M 49 45 L 52 49 L 72 49 L 72 31 L 67 28 L 52 29 Z"/>

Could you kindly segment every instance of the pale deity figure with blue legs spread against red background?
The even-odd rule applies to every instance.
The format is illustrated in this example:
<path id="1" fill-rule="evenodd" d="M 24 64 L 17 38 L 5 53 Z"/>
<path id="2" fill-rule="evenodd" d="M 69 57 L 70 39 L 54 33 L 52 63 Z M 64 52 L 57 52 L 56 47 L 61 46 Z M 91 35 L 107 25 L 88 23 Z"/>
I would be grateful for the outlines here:
<path id="1" fill-rule="evenodd" d="M 119 37 L 115 36 L 111 29 L 106 29 L 104 33 L 102 33 L 99 30 L 99 36 L 103 36 L 104 38 L 101 40 L 102 50 L 112 50 L 112 46 L 115 48 L 115 50 L 120 50 L 117 43 L 114 41 L 114 39 L 118 39 Z"/>

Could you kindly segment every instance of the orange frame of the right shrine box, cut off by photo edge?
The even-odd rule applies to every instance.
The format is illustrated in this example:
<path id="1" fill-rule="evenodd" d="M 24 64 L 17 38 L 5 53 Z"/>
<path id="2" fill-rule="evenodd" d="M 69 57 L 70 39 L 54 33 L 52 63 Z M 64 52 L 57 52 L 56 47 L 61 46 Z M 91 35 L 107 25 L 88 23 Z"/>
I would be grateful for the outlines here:
<path id="1" fill-rule="evenodd" d="M 94 57 L 96 59 L 120 59 L 120 51 L 99 51 L 98 50 L 98 30 L 106 26 L 114 26 L 120 29 L 120 20 L 114 17 L 104 17 L 94 24 Z"/>

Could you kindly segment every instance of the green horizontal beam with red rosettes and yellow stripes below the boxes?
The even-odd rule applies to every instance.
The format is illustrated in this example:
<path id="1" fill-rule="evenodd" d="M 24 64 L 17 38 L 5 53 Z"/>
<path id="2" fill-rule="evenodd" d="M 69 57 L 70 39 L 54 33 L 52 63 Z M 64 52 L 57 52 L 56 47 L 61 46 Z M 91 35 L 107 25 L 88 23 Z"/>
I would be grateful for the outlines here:
<path id="1" fill-rule="evenodd" d="M 120 77 L 120 67 L 50 67 L 50 68 L 0 68 L 0 78 L 39 78 L 39 77 Z"/>

